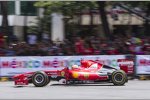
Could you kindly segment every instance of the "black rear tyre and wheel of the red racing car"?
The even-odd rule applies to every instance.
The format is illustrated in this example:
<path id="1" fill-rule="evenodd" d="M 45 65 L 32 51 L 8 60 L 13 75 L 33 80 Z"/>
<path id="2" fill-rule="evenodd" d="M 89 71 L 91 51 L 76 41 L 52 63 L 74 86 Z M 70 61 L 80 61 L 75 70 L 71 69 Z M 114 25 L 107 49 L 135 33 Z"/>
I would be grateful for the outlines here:
<path id="1" fill-rule="evenodd" d="M 124 71 L 117 70 L 112 73 L 111 80 L 114 85 L 124 85 L 127 82 L 127 75 Z"/>

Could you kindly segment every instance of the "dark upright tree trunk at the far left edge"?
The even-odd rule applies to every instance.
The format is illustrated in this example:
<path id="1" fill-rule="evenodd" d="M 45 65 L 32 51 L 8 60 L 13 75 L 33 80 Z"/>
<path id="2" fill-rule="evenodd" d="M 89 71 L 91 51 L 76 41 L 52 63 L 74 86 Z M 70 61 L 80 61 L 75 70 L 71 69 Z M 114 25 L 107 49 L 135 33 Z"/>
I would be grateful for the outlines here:
<path id="1" fill-rule="evenodd" d="M 8 27 L 8 19 L 7 19 L 7 1 L 0 1 L 1 12 L 2 12 L 2 32 L 3 35 L 6 35 L 7 38 L 9 36 L 9 27 Z M 7 42 L 9 39 L 7 39 Z"/>

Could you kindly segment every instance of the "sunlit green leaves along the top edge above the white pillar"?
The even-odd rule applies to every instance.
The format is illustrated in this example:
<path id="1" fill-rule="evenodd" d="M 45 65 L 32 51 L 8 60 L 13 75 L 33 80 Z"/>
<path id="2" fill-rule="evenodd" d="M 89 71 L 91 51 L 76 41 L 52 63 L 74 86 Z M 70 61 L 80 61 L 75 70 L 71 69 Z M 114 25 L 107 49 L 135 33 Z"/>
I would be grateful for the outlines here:
<path id="1" fill-rule="evenodd" d="M 73 16 L 77 12 L 94 9 L 97 7 L 94 1 L 39 1 L 35 3 L 36 7 L 45 8 L 45 14 L 60 12 L 65 16 Z"/>

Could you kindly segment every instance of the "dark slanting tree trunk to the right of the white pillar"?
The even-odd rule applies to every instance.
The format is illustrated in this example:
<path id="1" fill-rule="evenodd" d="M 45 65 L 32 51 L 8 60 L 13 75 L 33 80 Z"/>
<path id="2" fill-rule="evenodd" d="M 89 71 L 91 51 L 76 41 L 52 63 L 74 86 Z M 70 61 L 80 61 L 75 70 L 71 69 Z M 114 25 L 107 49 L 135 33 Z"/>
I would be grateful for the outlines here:
<path id="1" fill-rule="evenodd" d="M 102 21 L 105 36 L 107 36 L 108 39 L 111 39 L 111 33 L 107 21 L 107 13 L 105 11 L 105 1 L 98 1 L 97 3 L 99 5 L 99 11 L 100 11 L 101 21 Z"/>

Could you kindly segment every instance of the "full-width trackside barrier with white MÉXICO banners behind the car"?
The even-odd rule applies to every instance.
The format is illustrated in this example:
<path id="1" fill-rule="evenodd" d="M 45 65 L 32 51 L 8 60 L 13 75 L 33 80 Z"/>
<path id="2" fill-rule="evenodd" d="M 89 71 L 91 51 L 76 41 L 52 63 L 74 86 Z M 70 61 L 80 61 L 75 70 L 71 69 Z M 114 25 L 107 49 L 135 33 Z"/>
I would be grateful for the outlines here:
<path id="1" fill-rule="evenodd" d="M 150 55 L 16 56 L 0 57 L 0 81 L 11 80 L 12 76 L 25 72 L 61 70 L 64 67 L 71 67 L 73 64 L 79 65 L 81 59 L 95 60 L 118 69 L 119 59 L 129 59 L 134 61 L 134 73 L 130 74 L 131 77 L 150 75 Z"/>

